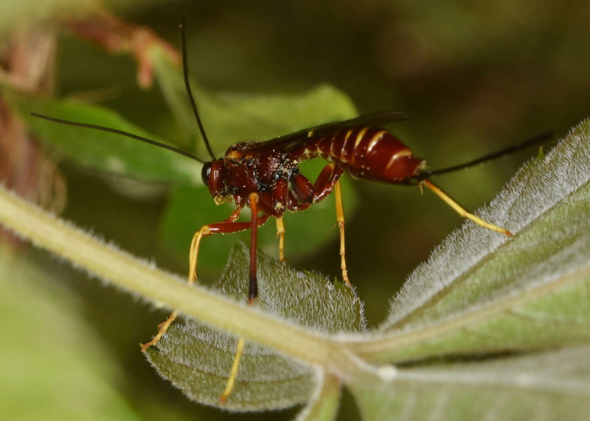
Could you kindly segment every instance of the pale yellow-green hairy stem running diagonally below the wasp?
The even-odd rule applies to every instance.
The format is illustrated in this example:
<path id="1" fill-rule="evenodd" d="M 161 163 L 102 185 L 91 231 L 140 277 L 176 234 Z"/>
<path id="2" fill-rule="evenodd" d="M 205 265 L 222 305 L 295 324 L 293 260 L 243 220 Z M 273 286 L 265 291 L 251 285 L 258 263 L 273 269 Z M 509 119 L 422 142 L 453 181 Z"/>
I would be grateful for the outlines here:
<path id="1" fill-rule="evenodd" d="M 104 244 L 4 188 L 0 188 L 0 222 L 35 245 L 117 287 L 177 308 L 199 321 L 242 335 L 304 363 L 324 367 L 341 377 L 367 373 L 361 361 L 329 337 L 278 320 L 198 285 L 190 287 L 178 277 Z"/>

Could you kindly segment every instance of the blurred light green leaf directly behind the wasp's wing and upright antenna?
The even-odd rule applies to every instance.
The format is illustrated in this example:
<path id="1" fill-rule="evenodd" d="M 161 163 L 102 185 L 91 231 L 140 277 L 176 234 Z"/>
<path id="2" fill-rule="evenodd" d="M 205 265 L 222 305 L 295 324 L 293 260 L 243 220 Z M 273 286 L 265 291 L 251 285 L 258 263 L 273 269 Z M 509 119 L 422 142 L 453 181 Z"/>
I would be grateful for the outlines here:
<path id="1" fill-rule="evenodd" d="M 182 70 L 159 49 L 150 54 L 162 93 L 186 131 L 187 144 L 195 144 L 199 156 L 206 150 L 186 95 Z M 330 85 L 319 85 L 303 94 L 208 93 L 191 81 L 192 93 L 209 142 L 217 157 L 235 143 L 264 141 L 305 127 L 356 117 L 350 98 Z"/>

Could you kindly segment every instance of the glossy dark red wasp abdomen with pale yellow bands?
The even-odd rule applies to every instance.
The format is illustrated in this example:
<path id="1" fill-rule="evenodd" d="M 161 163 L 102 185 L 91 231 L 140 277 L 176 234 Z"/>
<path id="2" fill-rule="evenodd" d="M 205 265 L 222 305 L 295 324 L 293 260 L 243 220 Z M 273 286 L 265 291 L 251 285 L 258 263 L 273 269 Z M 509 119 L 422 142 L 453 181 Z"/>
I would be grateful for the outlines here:
<path id="1" fill-rule="evenodd" d="M 357 177 L 389 182 L 418 175 L 425 166 L 393 134 L 376 127 L 353 127 L 326 136 L 312 133 L 293 152 L 300 160 L 323 157 Z"/>

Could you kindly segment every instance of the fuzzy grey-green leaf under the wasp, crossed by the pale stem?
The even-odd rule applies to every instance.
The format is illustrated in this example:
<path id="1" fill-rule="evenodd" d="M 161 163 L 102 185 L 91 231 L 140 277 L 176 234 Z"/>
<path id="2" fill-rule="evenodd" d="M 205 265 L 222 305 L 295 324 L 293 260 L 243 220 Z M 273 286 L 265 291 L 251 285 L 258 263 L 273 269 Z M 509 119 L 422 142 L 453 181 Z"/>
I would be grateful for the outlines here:
<path id="1" fill-rule="evenodd" d="M 232 249 L 215 289 L 239 300 L 248 296 L 250 256 L 245 244 Z M 362 302 L 340 282 L 298 272 L 258 252 L 258 300 L 264 311 L 323 331 L 362 331 Z M 197 402 L 218 405 L 234 358 L 237 338 L 196 321 L 176 323 L 148 349 L 149 361 Z M 275 351 L 247 343 L 234 392 L 223 406 L 232 410 L 279 409 L 306 402 L 313 371 Z"/>

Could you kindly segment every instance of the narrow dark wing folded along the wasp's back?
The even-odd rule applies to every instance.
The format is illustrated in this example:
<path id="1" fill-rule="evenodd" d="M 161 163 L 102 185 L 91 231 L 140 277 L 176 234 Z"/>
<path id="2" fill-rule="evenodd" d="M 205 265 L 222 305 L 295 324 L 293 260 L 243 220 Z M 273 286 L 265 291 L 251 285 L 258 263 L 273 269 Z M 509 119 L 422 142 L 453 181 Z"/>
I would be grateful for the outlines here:
<path id="1" fill-rule="evenodd" d="M 240 154 L 253 152 L 258 149 L 268 149 L 269 147 L 276 146 L 281 146 L 287 149 L 292 144 L 296 144 L 297 142 L 300 142 L 300 140 L 307 139 L 307 137 L 314 136 L 316 134 L 323 134 L 356 126 L 381 126 L 382 124 L 390 123 L 391 121 L 408 120 L 411 118 L 412 117 L 402 111 L 379 111 L 378 113 L 366 114 L 365 116 L 356 117 L 355 119 L 334 121 L 333 123 L 326 123 L 322 124 L 321 126 L 299 130 L 295 133 L 286 134 L 285 136 L 275 137 L 274 139 L 267 140 L 266 142 L 255 142 L 245 147 L 245 149 L 242 149 Z"/>

